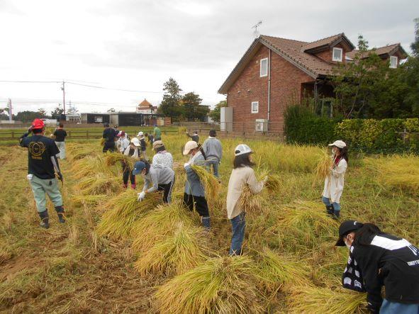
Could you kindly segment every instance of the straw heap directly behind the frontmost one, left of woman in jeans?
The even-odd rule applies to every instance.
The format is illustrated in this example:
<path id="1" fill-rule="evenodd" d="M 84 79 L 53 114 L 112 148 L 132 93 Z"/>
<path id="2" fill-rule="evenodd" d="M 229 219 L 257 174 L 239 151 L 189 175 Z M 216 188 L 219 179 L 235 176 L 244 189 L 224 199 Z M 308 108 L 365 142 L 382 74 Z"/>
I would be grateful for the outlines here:
<path id="1" fill-rule="evenodd" d="M 204 234 L 201 228 L 178 223 L 173 235 L 168 235 L 142 254 L 135 262 L 141 275 L 167 276 L 183 274 L 206 259 Z"/>

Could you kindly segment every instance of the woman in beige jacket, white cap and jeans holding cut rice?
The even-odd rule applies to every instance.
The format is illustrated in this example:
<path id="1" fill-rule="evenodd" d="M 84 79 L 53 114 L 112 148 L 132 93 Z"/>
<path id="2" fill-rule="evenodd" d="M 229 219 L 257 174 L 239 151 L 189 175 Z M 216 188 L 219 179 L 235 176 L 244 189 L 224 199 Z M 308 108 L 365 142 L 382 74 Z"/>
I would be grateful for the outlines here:
<path id="1" fill-rule="evenodd" d="M 252 150 L 245 144 L 235 147 L 233 170 L 228 181 L 227 191 L 227 216 L 230 219 L 233 233 L 229 252 L 231 256 L 242 254 L 246 213 L 238 201 L 243 193 L 243 189 L 245 186 L 248 186 L 252 194 L 259 194 L 267 181 L 267 177 L 262 179 L 262 181 L 257 181 L 255 171 L 252 169 L 255 164 L 252 162 L 251 154 Z"/>

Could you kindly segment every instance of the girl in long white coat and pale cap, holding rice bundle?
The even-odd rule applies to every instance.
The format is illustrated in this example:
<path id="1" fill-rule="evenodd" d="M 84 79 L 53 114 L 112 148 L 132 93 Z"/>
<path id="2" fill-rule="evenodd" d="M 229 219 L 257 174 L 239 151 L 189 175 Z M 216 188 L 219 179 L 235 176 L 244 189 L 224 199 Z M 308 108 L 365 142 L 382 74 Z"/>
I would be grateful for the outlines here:
<path id="1" fill-rule="evenodd" d="M 333 166 L 325 179 L 322 201 L 328 214 L 336 219 L 340 216 L 340 196 L 342 196 L 345 184 L 348 156 L 346 143 L 342 140 L 336 140 L 329 146 L 332 147 Z"/>

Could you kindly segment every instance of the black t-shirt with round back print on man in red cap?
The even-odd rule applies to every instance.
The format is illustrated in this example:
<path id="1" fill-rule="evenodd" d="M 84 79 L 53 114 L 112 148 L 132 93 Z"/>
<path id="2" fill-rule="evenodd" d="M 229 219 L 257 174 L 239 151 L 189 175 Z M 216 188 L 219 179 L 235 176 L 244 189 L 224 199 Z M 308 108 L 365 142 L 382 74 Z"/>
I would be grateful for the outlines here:
<path id="1" fill-rule="evenodd" d="M 40 179 L 54 179 L 55 170 L 51 157 L 57 155 L 57 145 L 54 140 L 43 135 L 33 135 L 23 138 L 22 147 L 28 147 L 28 174 Z"/>

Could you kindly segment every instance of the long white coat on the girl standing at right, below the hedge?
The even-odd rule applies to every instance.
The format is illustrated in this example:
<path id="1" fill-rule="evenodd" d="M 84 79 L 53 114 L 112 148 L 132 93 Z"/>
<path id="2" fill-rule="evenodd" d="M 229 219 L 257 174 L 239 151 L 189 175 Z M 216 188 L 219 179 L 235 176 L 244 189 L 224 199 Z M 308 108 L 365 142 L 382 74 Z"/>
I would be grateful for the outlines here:
<path id="1" fill-rule="evenodd" d="M 343 186 L 345 184 L 345 172 L 347 162 L 345 159 L 340 159 L 337 165 L 330 170 L 330 176 L 326 176 L 325 188 L 323 189 L 323 196 L 330 199 L 332 203 L 339 203 L 340 196 L 342 196 Z"/>

